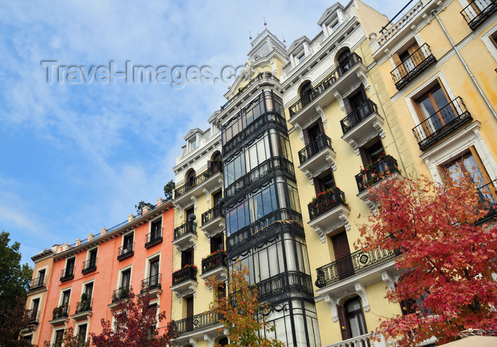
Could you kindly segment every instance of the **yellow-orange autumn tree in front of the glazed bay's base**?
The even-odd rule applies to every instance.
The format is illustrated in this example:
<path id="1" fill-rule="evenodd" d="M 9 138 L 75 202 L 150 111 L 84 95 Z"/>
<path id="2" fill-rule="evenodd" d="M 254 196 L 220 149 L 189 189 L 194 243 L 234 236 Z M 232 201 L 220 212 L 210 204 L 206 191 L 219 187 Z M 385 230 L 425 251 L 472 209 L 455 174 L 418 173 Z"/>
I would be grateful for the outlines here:
<path id="1" fill-rule="evenodd" d="M 237 261 L 229 277 L 228 297 L 216 298 L 209 309 L 222 317 L 224 329 L 228 331 L 228 347 L 284 347 L 285 343 L 268 338 L 261 332 L 273 332 L 275 327 L 266 320 L 271 311 L 268 303 L 258 300 L 256 286 L 249 285 L 249 269 Z M 209 278 L 207 286 L 217 288 L 224 282 Z"/>

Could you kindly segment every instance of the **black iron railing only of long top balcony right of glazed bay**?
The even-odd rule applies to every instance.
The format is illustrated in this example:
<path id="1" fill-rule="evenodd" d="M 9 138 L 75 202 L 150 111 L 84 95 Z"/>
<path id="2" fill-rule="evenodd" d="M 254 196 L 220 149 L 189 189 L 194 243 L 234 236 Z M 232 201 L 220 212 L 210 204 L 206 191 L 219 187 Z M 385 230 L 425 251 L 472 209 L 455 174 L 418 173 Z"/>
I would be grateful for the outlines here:
<path id="1" fill-rule="evenodd" d="M 337 82 L 339 78 L 346 73 L 352 66 L 357 63 L 362 63 L 361 57 L 356 53 L 351 53 L 346 60 L 340 63 L 337 68 L 335 68 L 331 73 L 329 73 L 319 84 L 317 84 L 312 90 L 301 97 L 299 100 L 294 102 L 290 107 L 288 107 L 288 112 L 290 112 L 290 117 L 300 112 L 305 106 L 307 106 L 312 100 L 319 97 L 325 90 L 331 87 L 334 82 Z"/>

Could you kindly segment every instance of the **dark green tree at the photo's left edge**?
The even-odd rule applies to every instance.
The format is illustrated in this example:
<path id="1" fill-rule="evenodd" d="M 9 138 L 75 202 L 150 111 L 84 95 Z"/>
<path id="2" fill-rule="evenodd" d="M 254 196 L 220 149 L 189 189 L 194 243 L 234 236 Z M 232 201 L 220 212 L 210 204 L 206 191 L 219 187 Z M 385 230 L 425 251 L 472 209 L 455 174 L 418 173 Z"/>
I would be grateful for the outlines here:
<path id="1" fill-rule="evenodd" d="M 28 324 L 24 306 L 33 269 L 21 265 L 21 244 L 9 246 L 9 236 L 4 230 L 0 233 L 0 346 L 31 346 L 18 336 Z"/>

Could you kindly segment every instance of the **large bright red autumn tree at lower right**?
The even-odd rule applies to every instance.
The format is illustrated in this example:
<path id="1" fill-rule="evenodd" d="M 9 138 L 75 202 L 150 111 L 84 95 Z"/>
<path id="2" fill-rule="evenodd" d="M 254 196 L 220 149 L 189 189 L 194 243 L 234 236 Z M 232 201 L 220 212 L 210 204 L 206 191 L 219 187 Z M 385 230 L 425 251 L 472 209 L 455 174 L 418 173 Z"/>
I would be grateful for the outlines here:
<path id="1" fill-rule="evenodd" d="M 381 247 L 400 253 L 395 264 L 403 274 L 391 302 L 407 311 L 381 319 L 382 333 L 399 346 L 417 346 L 435 336 L 437 343 L 457 339 L 465 329 L 497 330 L 497 226 L 481 225 L 488 210 L 467 177 L 445 185 L 428 178 L 389 179 L 372 190 L 381 204 L 362 225 L 363 251 Z"/>

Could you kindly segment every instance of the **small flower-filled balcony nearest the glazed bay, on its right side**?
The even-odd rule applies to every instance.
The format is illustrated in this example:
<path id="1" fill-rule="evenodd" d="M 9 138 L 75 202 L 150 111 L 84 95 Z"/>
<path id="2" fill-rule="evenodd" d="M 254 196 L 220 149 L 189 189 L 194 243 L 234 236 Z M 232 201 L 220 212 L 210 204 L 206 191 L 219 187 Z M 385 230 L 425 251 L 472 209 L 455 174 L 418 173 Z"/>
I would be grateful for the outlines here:
<path id="1" fill-rule="evenodd" d="M 345 194 L 338 187 L 330 188 L 319 193 L 307 205 L 310 221 L 321 242 L 326 242 L 326 235 L 344 227 L 350 230 L 350 208 L 346 203 Z"/>

